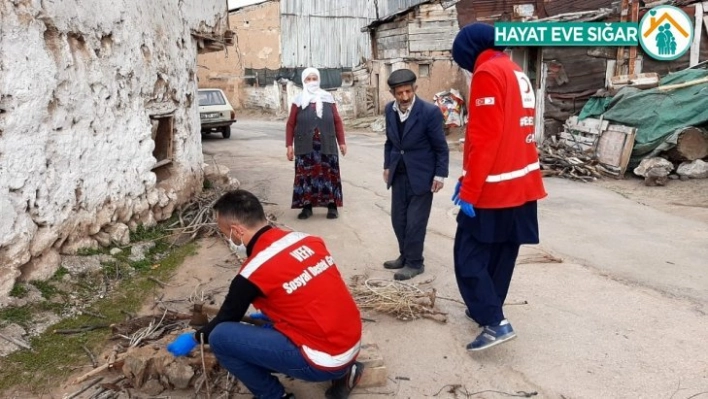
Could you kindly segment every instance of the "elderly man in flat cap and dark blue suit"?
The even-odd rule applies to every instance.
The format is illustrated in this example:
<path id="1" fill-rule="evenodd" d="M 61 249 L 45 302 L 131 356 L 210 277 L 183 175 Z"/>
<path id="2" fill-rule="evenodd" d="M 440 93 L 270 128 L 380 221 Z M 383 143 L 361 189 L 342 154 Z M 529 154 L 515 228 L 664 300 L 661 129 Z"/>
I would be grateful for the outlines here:
<path id="1" fill-rule="evenodd" d="M 425 271 L 423 244 L 433 194 L 443 188 L 449 149 L 440 109 L 416 96 L 416 76 L 398 69 L 388 78 L 394 101 L 386 105 L 383 178 L 391 189 L 391 222 L 398 257 L 384 262 L 396 280 Z"/>

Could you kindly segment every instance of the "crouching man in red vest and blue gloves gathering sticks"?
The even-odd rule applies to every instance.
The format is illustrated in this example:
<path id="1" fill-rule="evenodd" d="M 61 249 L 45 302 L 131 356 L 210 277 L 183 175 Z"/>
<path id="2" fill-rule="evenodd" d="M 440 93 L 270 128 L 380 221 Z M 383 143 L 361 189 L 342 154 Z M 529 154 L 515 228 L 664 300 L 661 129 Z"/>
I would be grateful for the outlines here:
<path id="1" fill-rule="evenodd" d="M 226 193 L 214 211 L 221 233 L 232 247 L 245 246 L 248 258 L 216 317 L 167 349 L 184 356 L 202 337 L 256 398 L 295 397 L 273 373 L 332 381 L 326 398 L 347 398 L 362 373 L 361 316 L 324 241 L 269 226 L 260 201 L 245 190 Z M 240 322 L 251 304 L 268 328 Z"/>

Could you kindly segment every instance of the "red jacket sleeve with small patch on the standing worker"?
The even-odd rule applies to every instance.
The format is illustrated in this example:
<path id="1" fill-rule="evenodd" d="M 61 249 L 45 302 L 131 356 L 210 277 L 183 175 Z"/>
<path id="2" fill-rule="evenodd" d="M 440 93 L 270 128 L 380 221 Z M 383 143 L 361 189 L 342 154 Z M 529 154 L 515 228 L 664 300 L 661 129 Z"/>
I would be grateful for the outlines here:
<path id="1" fill-rule="evenodd" d="M 460 198 L 476 205 L 502 140 L 504 88 L 488 71 L 472 77 Z"/>

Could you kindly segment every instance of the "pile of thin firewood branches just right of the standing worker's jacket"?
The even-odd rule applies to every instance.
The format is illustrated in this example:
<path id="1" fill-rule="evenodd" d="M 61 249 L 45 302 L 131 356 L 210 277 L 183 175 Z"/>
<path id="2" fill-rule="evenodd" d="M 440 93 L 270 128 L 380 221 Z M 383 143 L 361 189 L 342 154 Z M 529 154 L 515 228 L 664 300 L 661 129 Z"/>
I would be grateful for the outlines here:
<path id="1" fill-rule="evenodd" d="M 594 156 L 555 140 L 543 142 L 538 154 L 543 176 L 557 176 L 577 181 L 595 181 L 602 178 L 603 166 Z"/>

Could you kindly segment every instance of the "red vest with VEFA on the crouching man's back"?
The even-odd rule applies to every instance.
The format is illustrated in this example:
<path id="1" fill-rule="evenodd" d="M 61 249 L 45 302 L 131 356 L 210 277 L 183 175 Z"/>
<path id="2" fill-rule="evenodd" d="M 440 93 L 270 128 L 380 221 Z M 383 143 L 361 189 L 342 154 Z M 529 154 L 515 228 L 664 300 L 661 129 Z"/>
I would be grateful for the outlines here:
<path id="1" fill-rule="evenodd" d="M 253 305 L 320 369 L 356 359 L 361 316 L 321 238 L 270 229 L 239 271 L 263 293 Z"/>

